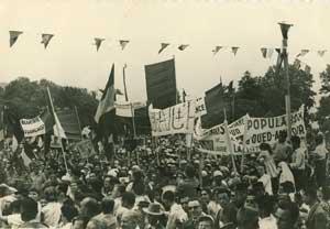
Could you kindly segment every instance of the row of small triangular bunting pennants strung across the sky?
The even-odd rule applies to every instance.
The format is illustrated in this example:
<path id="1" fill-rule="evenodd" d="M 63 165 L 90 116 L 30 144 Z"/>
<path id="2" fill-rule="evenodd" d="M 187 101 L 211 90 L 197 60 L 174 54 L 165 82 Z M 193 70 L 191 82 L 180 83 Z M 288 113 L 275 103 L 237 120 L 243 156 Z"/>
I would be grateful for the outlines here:
<path id="1" fill-rule="evenodd" d="M 18 41 L 19 37 L 23 34 L 23 31 L 9 31 L 9 45 L 10 47 L 12 47 Z M 54 37 L 54 34 L 47 34 L 47 33 L 43 33 L 42 34 L 42 44 L 44 45 L 44 47 L 46 48 L 51 42 L 51 40 Z M 96 51 L 98 52 L 101 48 L 101 45 L 103 44 L 103 42 L 106 41 L 106 39 L 103 37 L 95 37 L 94 39 L 94 45 L 96 46 Z M 131 42 L 129 40 L 119 40 L 119 46 L 121 47 L 121 50 L 123 51 L 128 44 Z M 164 53 L 164 51 L 169 47 L 173 46 L 175 44 L 170 44 L 170 43 L 161 43 L 161 47 L 158 50 L 158 54 Z M 177 50 L 183 52 L 185 50 L 187 50 L 190 46 L 190 44 L 178 44 L 177 45 Z M 240 46 L 222 46 L 222 45 L 216 45 L 211 52 L 213 53 L 213 56 L 216 56 L 217 54 L 220 53 L 220 51 L 229 48 L 230 52 L 235 56 L 240 50 Z M 263 58 L 272 58 L 274 51 L 276 51 L 278 53 L 278 51 L 280 51 L 280 48 L 274 48 L 274 47 L 261 47 L 261 55 Z M 316 51 L 318 56 L 323 57 L 324 54 L 327 53 L 327 50 L 317 50 Z M 304 57 L 307 54 L 311 53 L 311 50 L 307 50 L 304 48 L 301 50 L 297 55 L 296 58 L 298 57 Z M 299 59 L 298 59 L 299 61 Z M 297 63 L 298 63 L 297 61 Z M 301 62 L 301 61 L 299 61 Z"/>

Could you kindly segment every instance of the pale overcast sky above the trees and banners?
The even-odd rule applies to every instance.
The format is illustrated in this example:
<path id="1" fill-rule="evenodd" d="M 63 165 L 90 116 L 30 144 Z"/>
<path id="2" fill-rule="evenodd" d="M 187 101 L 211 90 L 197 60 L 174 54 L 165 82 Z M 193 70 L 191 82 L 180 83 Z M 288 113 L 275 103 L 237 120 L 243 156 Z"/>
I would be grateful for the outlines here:
<path id="1" fill-rule="evenodd" d="M 254 3 L 253 3 L 254 2 Z M 59 85 L 103 88 L 116 63 L 116 87 L 122 89 L 122 66 L 127 63 L 131 100 L 146 98 L 144 65 L 175 55 L 178 88 L 202 95 L 219 83 L 238 80 L 244 70 L 263 75 L 276 56 L 265 59 L 261 47 L 279 47 L 277 22 L 294 24 L 289 31 L 289 57 L 300 50 L 311 66 L 315 88 L 319 73 L 330 61 L 330 3 L 324 1 L 223 0 L 1 0 L 0 81 L 18 76 L 47 78 Z M 9 31 L 24 33 L 9 47 Z M 47 50 L 42 33 L 53 33 Z M 94 37 L 106 39 L 97 53 Z M 118 40 L 130 40 L 121 51 Z M 172 44 L 161 55 L 162 42 Z M 190 44 L 180 52 L 179 44 Z M 240 46 L 237 56 L 229 48 L 217 56 L 216 45 Z M 329 50 L 323 57 L 318 50 Z"/>

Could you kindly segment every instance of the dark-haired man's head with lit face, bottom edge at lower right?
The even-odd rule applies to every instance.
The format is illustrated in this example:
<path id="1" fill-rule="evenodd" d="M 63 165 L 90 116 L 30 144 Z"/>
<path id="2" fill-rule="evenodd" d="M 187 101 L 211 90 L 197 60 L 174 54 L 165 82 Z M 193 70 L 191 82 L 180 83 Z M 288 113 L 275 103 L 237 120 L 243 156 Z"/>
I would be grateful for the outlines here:
<path id="1" fill-rule="evenodd" d="M 277 219 L 278 229 L 292 229 L 295 228 L 299 217 L 299 208 L 295 203 L 289 203 L 282 207 L 278 207 L 275 217 Z"/>

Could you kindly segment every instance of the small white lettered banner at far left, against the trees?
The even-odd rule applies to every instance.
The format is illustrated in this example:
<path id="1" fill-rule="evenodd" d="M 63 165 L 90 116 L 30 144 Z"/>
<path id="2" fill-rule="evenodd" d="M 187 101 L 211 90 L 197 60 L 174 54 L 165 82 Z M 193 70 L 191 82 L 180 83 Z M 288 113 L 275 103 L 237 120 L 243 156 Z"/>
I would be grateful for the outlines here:
<path id="1" fill-rule="evenodd" d="M 21 119 L 20 123 L 22 126 L 24 137 L 36 137 L 45 134 L 46 132 L 45 123 L 38 116 L 33 119 Z"/>

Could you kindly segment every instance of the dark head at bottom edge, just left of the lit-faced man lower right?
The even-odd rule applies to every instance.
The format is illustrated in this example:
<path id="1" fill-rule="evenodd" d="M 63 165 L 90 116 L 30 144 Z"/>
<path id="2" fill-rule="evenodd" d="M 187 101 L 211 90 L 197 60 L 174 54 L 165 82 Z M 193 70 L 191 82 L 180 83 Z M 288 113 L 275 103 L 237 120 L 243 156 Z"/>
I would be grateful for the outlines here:
<path id="1" fill-rule="evenodd" d="M 243 207 L 238 211 L 238 229 L 258 229 L 258 212 Z"/>

